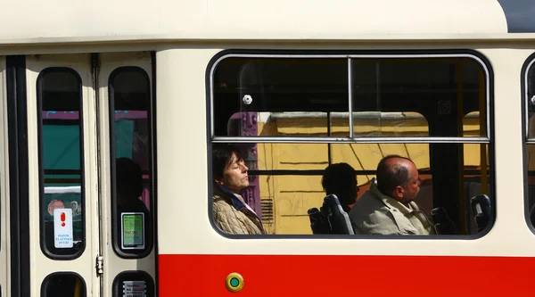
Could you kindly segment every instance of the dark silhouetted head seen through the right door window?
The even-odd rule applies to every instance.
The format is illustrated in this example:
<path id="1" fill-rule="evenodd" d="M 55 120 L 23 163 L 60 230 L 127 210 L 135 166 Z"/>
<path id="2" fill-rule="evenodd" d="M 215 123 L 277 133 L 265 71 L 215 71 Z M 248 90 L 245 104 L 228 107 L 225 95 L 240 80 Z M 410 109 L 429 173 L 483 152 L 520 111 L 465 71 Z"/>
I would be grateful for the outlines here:
<path id="1" fill-rule="evenodd" d="M 143 173 L 141 167 L 128 158 L 115 161 L 115 185 L 117 193 L 128 198 L 139 197 L 143 194 Z"/>

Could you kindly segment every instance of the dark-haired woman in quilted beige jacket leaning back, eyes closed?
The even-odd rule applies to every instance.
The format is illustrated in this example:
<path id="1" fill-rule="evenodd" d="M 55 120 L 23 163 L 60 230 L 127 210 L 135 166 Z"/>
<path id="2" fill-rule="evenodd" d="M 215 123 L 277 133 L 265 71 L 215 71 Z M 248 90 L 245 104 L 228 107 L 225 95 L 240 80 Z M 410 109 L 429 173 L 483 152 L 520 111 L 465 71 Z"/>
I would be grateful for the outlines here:
<path id="1" fill-rule="evenodd" d="M 259 217 L 240 195 L 249 186 L 249 177 L 239 148 L 215 144 L 212 163 L 212 211 L 216 225 L 228 234 L 266 234 Z"/>

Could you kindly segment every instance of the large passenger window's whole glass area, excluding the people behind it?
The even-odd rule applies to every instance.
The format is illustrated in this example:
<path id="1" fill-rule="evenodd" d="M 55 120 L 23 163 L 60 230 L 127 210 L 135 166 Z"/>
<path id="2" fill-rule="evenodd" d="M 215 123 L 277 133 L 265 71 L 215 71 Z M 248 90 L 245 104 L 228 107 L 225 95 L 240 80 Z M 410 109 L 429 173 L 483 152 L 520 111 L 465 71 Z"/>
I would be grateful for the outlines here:
<path id="1" fill-rule="evenodd" d="M 494 201 L 489 82 L 476 60 L 270 55 L 222 59 L 214 68 L 212 149 L 233 143 L 241 149 L 249 185 L 230 192 L 243 197 L 267 234 L 312 234 L 308 210 L 322 206 L 328 165 L 346 162 L 356 170 L 360 199 L 390 154 L 415 163 L 421 179 L 415 202 L 429 223 L 443 219 L 433 209 L 449 215 L 451 233 L 440 235 L 477 235 L 491 226 L 491 205 L 484 226 L 473 210 L 473 197 Z M 284 143 L 274 136 L 285 136 Z M 221 194 L 225 180 L 210 174 L 212 193 Z M 212 205 L 214 216 L 218 207 Z"/>

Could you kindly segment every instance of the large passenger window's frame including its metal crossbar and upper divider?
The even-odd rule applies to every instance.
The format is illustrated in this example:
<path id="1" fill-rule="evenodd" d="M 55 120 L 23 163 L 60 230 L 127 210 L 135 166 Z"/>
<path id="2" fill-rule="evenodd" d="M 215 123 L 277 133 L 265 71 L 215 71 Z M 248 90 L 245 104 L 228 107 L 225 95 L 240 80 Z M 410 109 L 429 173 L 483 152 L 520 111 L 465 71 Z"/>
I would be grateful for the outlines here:
<path id="1" fill-rule="evenodd" d="M 535 54 L 534 54 L 535 55 Z M 433 136 L 433 137 L 355 137 L 353 136 L 353 120 L 349 117 L 350 136 L 216 136 L 214 128 L 214 74 L 219 62 L 226 58 L 317 58 L 317 59 L 346 59 L 348 61 L 348 107 L 349 114 L 352 112 L 352 63 L 354 59 L 410 59 L 410 58 L 467 58 L 478 62 L 483 70 L 485 83 L 485 108 L 486 127 L 485 136 Z M 247 49 L 227 49 L 216 54 L 208 63 L 206 72 L 206 104 L 207 104 L 207 160 L 208 160 L 208 217 L 211 227 L 223 237 L 230 239 L 266 239 L 266 238 L 288 238 L 288 239 L 431 239 L 431 240 L 474 240 L 487 235 L 496 221 L 496 174 L 495 174 L 495 147 L 494 147 L 494 73 L 490 61 L 483 54 L 473 49 L 450 49 L 450 50 L 247 50 Z M 488 146 L 489 175 L 488 183 L 490 192 L 488 194 L 492 205 L 492 218 L 485 230 L 475 235 L 232 235 L 220 230 L 212 215 L 212 144 L 485 144 Z M 285 170 L 284 170 L 285 171 Z M 315 171 L 315 170 L 313 170 Z M 470 199 L 466 198 L 467 202 Z"/>

